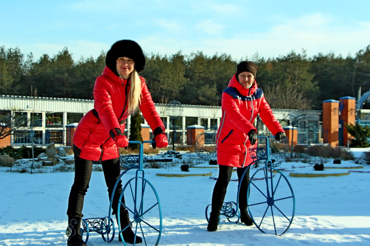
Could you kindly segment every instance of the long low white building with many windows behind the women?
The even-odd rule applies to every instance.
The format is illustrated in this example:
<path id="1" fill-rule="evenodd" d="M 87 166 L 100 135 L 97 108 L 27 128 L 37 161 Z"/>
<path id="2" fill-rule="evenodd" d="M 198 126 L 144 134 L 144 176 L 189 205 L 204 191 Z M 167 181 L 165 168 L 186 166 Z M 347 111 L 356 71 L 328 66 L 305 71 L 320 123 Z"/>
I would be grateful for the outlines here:
<path id="1" fill-rule="evenodd" d="M 66 126 L 78 123 L 93 107 L 94 100 L 0 95 L 0 120 L 13 118 L 17 125 L 8 145 L 27 145 L 31 142 L 40 145 L 50 142 L 65 145 Z M 170 144 L 175 133 L 175 143 L 186 145 L 186 128 L 190 125 L 201 125 L 206 131 L 214 133 L 221 119 L 219 106 L 170 103 L 155 104 L 155 107 L 165 124 Z M 293 124 L 299 129 L 298 143 L 320 141 L 322 111 L 273 109 L 273 112 L 283 127 Z M 147 124 L 144 118 L 142 123 Z M 129 124 L 128 118 L 127 135 Z M 175 132 L 173 125 L 176 126 Z M 258 122 L 257 127 L 259 134 L 270 134 L 262 122 Z"/>

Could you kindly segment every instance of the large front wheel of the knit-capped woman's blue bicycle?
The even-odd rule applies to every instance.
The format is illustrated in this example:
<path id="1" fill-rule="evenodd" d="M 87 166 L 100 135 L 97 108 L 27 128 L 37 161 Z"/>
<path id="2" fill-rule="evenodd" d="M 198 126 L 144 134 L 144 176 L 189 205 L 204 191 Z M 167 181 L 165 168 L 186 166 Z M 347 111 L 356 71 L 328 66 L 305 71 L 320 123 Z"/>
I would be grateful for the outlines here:
<path id="1" fill-rule="evenodd" d="M 248 211 L 257 228 L 282 235 L 292 224 L 295 197 L 283 173 L 272 167 L 258 169 L 247 189 Z"/>

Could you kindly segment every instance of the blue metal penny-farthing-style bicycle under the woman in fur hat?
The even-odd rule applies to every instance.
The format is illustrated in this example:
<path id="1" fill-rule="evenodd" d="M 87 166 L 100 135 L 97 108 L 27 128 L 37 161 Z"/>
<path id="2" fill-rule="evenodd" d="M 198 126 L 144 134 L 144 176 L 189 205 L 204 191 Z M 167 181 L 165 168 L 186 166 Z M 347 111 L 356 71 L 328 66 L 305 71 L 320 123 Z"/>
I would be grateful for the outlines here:
<path id="1" fill-rule="evenodd" d="M 120 156 L 121 166 L 126 168 L 118 178 L 111 196 L 108 216 L 104 218 L 82 219 L 81 235 L 87 243 L 90 232 L 99 233 L 104 241 L 111 242 L 115 235 L 115 227 L 112 214 L 112 201 L 115 189 L 122 176 L 129 170 L 136 169 L 135 177 L 128 180 L 123 187 L 119 198 L 117 216 L 120 221 L 121 209 L 127 209 L 131 223 L 125 228 L 121 228 L 118 223 L 118 234 L 122 239 L 122 243 L 126 246 L 125 240 L 122 238 L 122 233 L 128 226 L 131 226 L 132 231 L 136 236 L 142 237 L 142 242 L 145 245 L 158 245 L 162 233 L 162 208 L 158 198 L 157 191 L 154 186 L 144 177 L 144 165 L 146 156 L 144 156 L 144 143 L 153 143 L 153 141 L 129 141 L 129 143 L 139 144 L 139 155 Z M 121 202 L 125 196 L 125 204 Z M 132 200 L 130 199 L 132 198 Z M 135 242 L 134 242 L 135 245 Z"/>

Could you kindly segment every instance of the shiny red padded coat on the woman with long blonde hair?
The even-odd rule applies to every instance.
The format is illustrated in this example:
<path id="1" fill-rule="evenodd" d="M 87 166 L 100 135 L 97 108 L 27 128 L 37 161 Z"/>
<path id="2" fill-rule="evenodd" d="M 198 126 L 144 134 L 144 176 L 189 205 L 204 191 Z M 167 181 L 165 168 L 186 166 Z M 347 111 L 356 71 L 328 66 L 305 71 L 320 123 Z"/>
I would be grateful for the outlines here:
<path id="1" fill-rule="evenodd" d="M 164 125 L 148 91 L 143 77 L 139 108 L 152 131 Z M 86 160 L 110 160 L 117 158 L 119 148 L 109 135 L 112 128 L 124 132 L 127 114 L 129 80 L 121 79 L 108 67 L 98 76 L 94 85 L 94 109 L 87 112 L 73 135 L 73 152 Z M 136 140 L 136 139 L 132 139 Z"/>

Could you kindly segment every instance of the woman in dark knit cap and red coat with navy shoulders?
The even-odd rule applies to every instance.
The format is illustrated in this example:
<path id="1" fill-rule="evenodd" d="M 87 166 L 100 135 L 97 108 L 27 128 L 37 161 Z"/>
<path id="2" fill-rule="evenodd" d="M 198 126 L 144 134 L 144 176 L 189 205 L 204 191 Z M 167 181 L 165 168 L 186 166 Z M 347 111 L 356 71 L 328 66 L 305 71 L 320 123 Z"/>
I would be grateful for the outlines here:
<path id="1" fill-rule="evenodd" d="M 211 232 L 217 231 L 220 210 L 233 167 L 237 168 L 240 179 L 253 161 L 248 156 L 248 149 L 257 141 L 257 129 L 253 125 L 257 114 L 270 132 L 275 135 L 277 141 L 285 137 L 285 131 L 272 114 L 270 105 L 263 96 L 263 91 L 257 86 L 255 80 L 257 71 L 258 66 L 254 62 L 240 62 L 236 66 L 236 73 L 231 78 L 228 87 L 222 92 L 222 118 L 216 136 L 219 176 L 213 188 L 212 211 L 207 227 L 207 230 Z M 249 169 L 240 185 L 239 209 L 240 221 L 245 225 L 252 225 L 247 208 L 248 182 Z"/>

